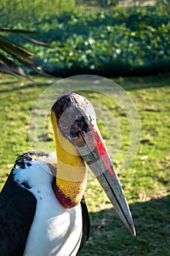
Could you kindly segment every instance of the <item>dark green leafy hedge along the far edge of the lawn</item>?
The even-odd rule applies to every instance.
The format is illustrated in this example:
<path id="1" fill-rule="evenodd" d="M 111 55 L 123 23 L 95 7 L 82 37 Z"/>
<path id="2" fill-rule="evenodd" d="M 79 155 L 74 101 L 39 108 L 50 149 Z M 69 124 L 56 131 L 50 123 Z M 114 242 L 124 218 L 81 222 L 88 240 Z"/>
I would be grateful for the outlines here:
<path id="1" fill-rule="evenodd" d="M 156 7 L 113 12 L 65 12 L 34 24 L 55 48 L 27 45 L 54 75 L 146 75 L 169 71 L 169 11 Z M 32 29 L 31 26 L 26 28 Z"/>

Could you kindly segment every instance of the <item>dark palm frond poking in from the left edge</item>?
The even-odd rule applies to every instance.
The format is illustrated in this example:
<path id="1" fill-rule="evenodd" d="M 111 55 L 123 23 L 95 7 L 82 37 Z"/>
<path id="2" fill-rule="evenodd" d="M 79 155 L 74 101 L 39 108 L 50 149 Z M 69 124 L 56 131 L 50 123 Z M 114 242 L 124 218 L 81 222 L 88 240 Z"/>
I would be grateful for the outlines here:
<path id="1" fill-rule="evenodd" d="M 5 33 L 5 35 L 2 35 L 3 33 Z M 9 39 L 7 37 L 9 33 L 16 34 L 18 37 L 22 37 L 35 45 L 50 48 L 50 45 L 47 45 L 45 42 L 40 42 L 25 35 L 37 34 L 34 31 L 0 28 L 0 71 L 9 75 L 21 75 L 28 78 L 28 74 L 23 70 L 23 67 L 26 67 L 41 75 L 47 75 L 37 68 L 39 64 L 35 61 L 36 55 L 23 45 L 18 44 L 18 42 Z"/>

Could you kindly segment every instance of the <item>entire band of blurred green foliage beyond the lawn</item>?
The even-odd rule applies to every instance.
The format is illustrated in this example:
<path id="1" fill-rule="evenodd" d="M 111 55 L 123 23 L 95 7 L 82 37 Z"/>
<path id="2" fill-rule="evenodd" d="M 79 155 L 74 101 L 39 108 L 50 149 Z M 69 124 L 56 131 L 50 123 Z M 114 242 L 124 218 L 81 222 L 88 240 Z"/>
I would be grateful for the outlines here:
<path id="1" fill-rule="evenodd" d="M 43 48 L 7 34 L 36 53 L 45 72 L 67 76 L 148 75 L 170 68 L 169 1 L 0 1 L 1 27 L 26 29 Z"/>

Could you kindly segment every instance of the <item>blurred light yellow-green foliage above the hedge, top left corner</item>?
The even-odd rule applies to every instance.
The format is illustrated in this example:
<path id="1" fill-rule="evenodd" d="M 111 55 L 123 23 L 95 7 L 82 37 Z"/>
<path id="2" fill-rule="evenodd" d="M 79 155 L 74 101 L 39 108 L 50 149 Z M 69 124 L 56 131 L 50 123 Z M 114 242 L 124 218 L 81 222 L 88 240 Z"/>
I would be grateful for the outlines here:
<path id="1" fill-rule="evenodd" d="M 74 7 L 74 0 L 0 0 L 0 18 L 3 26 L 36 23 L 58 11 L 72 11 Z"/>

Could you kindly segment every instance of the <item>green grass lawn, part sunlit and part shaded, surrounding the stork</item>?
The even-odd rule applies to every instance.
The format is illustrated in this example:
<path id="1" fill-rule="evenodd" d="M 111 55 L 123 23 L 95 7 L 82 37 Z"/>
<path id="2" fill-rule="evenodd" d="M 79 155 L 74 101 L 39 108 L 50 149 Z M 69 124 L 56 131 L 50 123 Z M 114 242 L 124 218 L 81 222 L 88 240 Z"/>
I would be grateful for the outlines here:
<path id="1" fill-rule="evenodd" d="M 28 137 L 31 109 L 39 94 L 56 80 L 36 76 L 33 79 L 34 81 L 31 82 L 4 75 L 0 78 L 0 187 L 7 179 L 16 157 L 24 151 L 31 150 Z M 123 141 L 120 154 L 115 159 L 115 167 L 130 203 L 136 226 L 136 237 L 128 233 L 111 209 L 111 204 L 98 182 L 90 174 L 85 196 L 90 211 L 91 236 L 80 255 L 168 256 L 170 248 L 170 75 L 119 78 L 116 82 L 134 100 L 142 128 L 136 158 L 128 169 L 121 171 L 121 161 L 129 143 L 128 123 L 120 109 L 108 106 L 120 124 L 122 133 Z M 89 94 L 87 96 L 89 97 Z M 90 99 L 104 101 L 95 93 L 90 93 Z M 109 125 L 112 127 L 112 123 Z M 104 138 L 107 137 L 102 124 L 98 126 Z M 50 147 L 55 148 L 51 135 L 49 125 L 47 138 L 49 138 Z M 112 143 L 114 144 L 114 141 Z M 113 159 L 112 150 L 110 154 Z"/>

